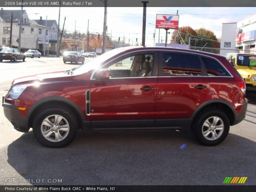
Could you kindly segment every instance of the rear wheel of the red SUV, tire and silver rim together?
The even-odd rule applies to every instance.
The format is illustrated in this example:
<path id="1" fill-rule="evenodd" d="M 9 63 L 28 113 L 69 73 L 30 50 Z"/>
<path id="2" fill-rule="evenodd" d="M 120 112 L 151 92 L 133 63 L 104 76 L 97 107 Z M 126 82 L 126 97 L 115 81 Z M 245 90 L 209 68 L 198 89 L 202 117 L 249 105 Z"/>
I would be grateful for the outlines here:
<path id="1" fill-rule="evenodd" d="M 216 108 L 201 111 L 192 123 L 198 141 L 206 146 L 220 144 L 228 136 L 229 119 L 227 115 Z"/>

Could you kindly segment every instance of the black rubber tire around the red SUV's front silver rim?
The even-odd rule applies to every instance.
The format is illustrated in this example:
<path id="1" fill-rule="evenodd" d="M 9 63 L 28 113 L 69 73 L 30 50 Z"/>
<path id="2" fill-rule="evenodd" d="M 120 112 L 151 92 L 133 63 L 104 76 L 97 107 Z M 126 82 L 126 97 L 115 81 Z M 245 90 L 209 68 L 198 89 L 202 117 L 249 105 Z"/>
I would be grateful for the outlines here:
<path id="1" fill-rule="evenodd" d="M 69 132 L 67 133 L 67 136 L 63 140 L 56 141 L 56 142 L 47 140 L 44 137 L 43 133 L 41 132 L 41 124 L 43 123 L 43 121 L 44 121 L 44 119 L 46 117 L 51 116 L 51 115 L 60 115 L 60 116 L 64 117 L 67 120 L 68 124 L 69 124 Z M 46 126 L 46 128 L 49 129 L 50 127 Z M 53 129 L 53 128 L 50 128 L 50 130 L 51 129 Z M 59 131 L 55 131 L 55 132 L 59 132 Z M 76 132 L 77 132 L 76 116 L 68 108 L 64 108 L 64 107 L 59 106 L 59 105 L 50 106 L 50 107 L 46 107 L 46 108 L 41 109 L 36 114 L 36 117 L 35 117 L 35 119 L 33 121 L 33 133 L 34 133 L 34 136 L 35 136 L 36 140 L 41 145 L 43 145 L 45 147 L 49 147 L 49 148 L 65 147 L 65 146 L 67 146 L 69 143 L 71 143 L 74 140 L 74 138 L 76 136 Z M 63 133 L 65 133 L 65 132 L 63 132 Z M 52 137 L 54 135 L 55 135 L 55 133 L 53 131 L 49 138 L 52 139 Z"/>

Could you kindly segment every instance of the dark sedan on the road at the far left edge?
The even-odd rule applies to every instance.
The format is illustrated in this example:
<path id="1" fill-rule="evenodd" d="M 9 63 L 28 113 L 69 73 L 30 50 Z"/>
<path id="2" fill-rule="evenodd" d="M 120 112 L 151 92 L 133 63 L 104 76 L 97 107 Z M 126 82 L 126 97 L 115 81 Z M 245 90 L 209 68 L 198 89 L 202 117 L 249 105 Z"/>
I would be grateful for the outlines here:
<path id="1" fill-rule="evenodd" d="M 0 52 L 0 62 L 3 60 L 10 60 L 16 62 L 17 60 L 25 61 L 26 56 L 19 49 L 5 48 Z"/>

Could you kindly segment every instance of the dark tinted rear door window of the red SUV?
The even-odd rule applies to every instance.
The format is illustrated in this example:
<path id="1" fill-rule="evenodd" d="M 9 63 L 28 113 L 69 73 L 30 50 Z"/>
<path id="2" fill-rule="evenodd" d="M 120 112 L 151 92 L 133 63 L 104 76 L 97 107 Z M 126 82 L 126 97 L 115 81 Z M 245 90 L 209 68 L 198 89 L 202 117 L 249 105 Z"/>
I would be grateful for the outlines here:
<path id="1" fill-rule="evenodd" d="M 163 76 L 201 76 L 201 61 L 196 55 L 164 52 L 163 60 Z"/>

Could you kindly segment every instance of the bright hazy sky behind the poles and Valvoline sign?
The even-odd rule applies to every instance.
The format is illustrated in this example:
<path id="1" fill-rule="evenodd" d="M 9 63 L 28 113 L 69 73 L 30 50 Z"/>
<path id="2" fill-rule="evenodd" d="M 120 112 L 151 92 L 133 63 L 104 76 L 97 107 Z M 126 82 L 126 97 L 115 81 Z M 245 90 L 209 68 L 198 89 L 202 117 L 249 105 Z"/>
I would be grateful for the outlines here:
<path id="1" fill-rule="evenodd" d="M 4 7 L 4 9 L 20 9 L 18 7 Z M 59 7 L 24 7 L 29 19 L 57 20 Z M 237 22 L 251 14 L 256 13 L 255 7 L 147 7 L 146 16 L 146 45 L 153 46 L 155 26 L 149 23 L 156 23 L 156 14 L 176 14 L 179 12 L 179 27 L 190 26 L 193 29 L 206 28 L 214 32 L 217 38 L 221 37 L 222 23 Z M 33 14 L 39 13 L 39 14 Z M 113 40 L 120 37 L 125 43 L 135 44 L 138 38 L 139 44 L 142 39 L 142 7 L 108 7 L 107 8 L 107 35 Z M 64 17 L 66 18 L 65 29 L 70 32 L 87 33 L 87 24 L 89 19 L 89 32 L 100 33 L 103 31 L 104 7 L 61 7 L 60 10 L 60 27 L 62 29 Z M 112 35 L 111 35 L 112 31 Z M 168 42 L 174 30 L 168 32 Z M 158 43 L 159 29 L 156 29 L 155 43 Z M 165 30 L 160 29 L 160 42 L 165 40 Z"/>

